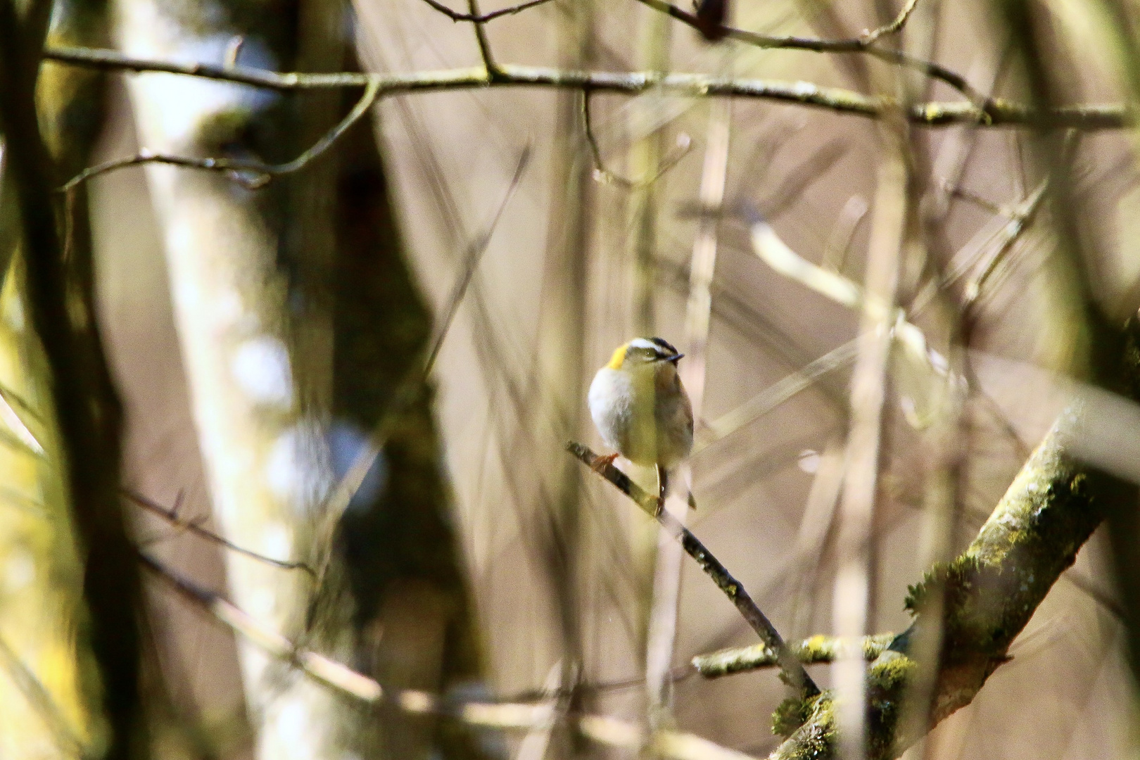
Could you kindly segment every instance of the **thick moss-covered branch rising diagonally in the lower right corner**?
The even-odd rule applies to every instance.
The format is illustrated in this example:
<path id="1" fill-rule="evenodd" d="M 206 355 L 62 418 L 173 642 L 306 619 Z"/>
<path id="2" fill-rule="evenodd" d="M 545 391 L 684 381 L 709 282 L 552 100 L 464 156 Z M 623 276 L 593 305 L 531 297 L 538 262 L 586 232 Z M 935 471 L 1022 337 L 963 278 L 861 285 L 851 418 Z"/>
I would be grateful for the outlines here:
<path id="1" fill-rule="evenodd" d="M 961 556 L 936 567 L 911 588 L 913 624 L 874 659 L 866 676 L 869 720 L 866 757 L 897 757 L 919 736 L 902 733 L 902 702 L 918 663 L 910 641 L 927 626 L 943 627 L 943 651 L 929 730 L 970 703 L 986 679 L 1009 660 L 1009 646 L 1025 628 L 1058 577 L 1104 518 L 1105 507 L 1122 498 L 1121 481 L 1077 463 L 1066 452 L 1066 431 L 1081 407 L 1069 408 L 1013 480 L 990 520 Z M 943 614 L 928 614 L 927 600 L 943 596 Z M 933 605 L 936 606 L 936 605 Z M 806 718 L 772 760 L 834 757 L 838 749 L 834 695 L 782 705 Z"/>

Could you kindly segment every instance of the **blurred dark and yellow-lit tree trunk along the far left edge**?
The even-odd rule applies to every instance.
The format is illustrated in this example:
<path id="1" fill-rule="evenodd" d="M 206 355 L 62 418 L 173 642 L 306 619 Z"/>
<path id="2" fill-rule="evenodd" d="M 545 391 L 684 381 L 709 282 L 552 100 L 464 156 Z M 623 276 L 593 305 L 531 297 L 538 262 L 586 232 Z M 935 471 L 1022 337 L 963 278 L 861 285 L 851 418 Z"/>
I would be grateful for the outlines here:
<path id="1" fill-rule="evenodd" d="M 6 9 L 0 42 L 0 751 L 145 757 L 138 569 L 119 504 L 121 412 L 93 320 L 85 193 L 70 198 L 70 229 L 57 232 L 52 219 L 63 199 L 52 188 L 88 162 L 101 129 L 104 75 L 47 65 L 35 81 L 49 19 L 49 44 L 103 47 L 106 3 L 62 3 L 54 17 L 50 2 L 21 10 L 16 24 Z M 38 114 L 27 119 L 19 98 L 31 87 Z"/>

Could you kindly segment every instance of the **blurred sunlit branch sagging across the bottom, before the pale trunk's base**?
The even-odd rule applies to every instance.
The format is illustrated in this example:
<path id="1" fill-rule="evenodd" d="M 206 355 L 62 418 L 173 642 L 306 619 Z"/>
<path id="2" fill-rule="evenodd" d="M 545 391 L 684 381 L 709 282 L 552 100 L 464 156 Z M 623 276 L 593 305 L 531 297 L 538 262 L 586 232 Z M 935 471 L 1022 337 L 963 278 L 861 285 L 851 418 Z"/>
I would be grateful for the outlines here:
<path id="1" fill-rule="evenodd" d="M 404 712 L 438 714 L 472 726 L 502 729 L 530 729 L 551 719 L 548 703 L 465 702 L 420 689 L 396 689 L 381 686 L 375 679 L 359 673 L 323 654 L 296 646 L 285 636 L 246 614 L 220 594 L 197 586 L 173 570 L 146 556 L 138 555 L 142 566 L 192 604 L 209 612 L 235 634 L 266 654 L 286 662 L 318 684 L 357 702 L 369 705 L 389 704 Z M 548 702 L 548 701 L 545 701 Z M 652 750 L 671 760 L 752 760 L 750 755 L 720 746 L 684 732 L 662 730 L 646 737 L 641 727 L 618 718 L 571 713 L 575 728 L 600 744 L 641 750 L 646 739 Z"/>

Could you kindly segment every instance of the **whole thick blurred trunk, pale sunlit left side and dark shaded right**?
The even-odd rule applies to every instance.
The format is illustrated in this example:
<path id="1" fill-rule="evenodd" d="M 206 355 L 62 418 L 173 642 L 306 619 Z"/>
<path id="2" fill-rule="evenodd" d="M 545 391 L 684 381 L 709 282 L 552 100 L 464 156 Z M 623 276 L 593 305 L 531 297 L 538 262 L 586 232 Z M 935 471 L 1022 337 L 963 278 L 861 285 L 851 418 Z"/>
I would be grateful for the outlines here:
<path id="1" fill-rule="evenodd" d="M 217 62 L 241 34 L 243 64 L 357 67 L 336 0 L 178 8 L 123 0 L 120 9 L 122 47 L 136 55 L 193 50 Z M 359 97 L 162 77 L 138 77 L 131 92 L 147 148 L 271 162 L 300 154 Z M 475 681 L 480 660 L 430 386 L 399 414 L 348 512 L 319 510 L 331 476 L 423 360 L 431 328 L 367 122 L 334 154 L 258 193 L 222 177 L 150 169 L 192 404 L 227 538 L 309 559 L 326 549 L 314 545 L 327 534 L 321 526 L 341 521 L 337 557 L 311 604 L 300 573 L 229 555 L 238 605 L 385 686 L 446 692 Z M 242 657 L 259 757 L 479 754 L 449 724 L 386 709 L 377 724 L 255 649 Z"/>

